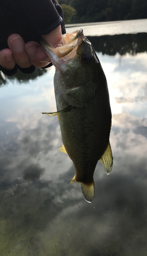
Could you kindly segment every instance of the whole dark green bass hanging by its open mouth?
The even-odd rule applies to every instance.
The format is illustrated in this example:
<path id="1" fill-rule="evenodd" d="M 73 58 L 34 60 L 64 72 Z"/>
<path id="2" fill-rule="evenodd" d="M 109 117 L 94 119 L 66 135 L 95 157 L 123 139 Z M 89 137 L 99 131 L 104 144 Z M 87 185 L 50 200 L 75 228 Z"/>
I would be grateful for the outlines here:
<path id="1" fill-rule="evenodd" d="M 85 201 L 95 195 L 94 172 L 103 163 L 106 174 L 113 164 L 109 142 L 111 109 L 107 81 L 91 42 L 80 28 L 63 35 L 65 45 L 52 48 L 42 38 L 41 45 L 55 67 L 54 93 L 57 111 L 42 112 L 58 116 L 63 146 L 73 161 L 71 183 L 81 184 Z"/>

